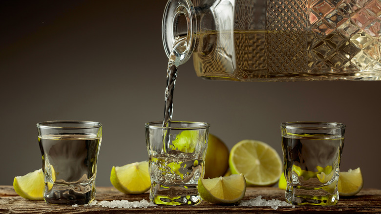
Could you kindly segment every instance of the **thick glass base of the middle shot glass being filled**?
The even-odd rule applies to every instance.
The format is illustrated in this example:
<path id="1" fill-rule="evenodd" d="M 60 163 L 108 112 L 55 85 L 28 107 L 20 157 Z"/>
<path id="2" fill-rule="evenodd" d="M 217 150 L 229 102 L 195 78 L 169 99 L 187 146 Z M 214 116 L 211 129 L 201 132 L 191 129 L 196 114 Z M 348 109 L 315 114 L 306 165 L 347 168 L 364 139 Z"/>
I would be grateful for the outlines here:
<path id="1" fill-rule="evenodd" d="M 197 185 L 163 186 L 152 183 L 149 199 L 155 204 L 165 205 L 196 205 L 201 202 Z"/>

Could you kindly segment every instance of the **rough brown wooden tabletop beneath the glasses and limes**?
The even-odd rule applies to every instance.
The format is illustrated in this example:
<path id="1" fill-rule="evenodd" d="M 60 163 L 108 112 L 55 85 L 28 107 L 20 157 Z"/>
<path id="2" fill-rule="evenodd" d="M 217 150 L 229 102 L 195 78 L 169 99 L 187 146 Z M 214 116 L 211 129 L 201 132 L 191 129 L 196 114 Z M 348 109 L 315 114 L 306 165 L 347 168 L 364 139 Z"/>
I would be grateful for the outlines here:
<path id="1" fill-rule="evenodd" d="M 253 199 L 262 195 L 262 199 L 278 199 L 284 201 L 284 191 L 275 187 L 247 188 L 243 200 Z M 96 200 L 148 200 L 148 193 L 139 195 L 127 195 L 117 191 L 113 187 L 97 187 Z M 202 201 L 196 206 L 156 206 L 148 208 L 107 208 L 101 206 L 72 207 L 48 205 L 44 201 L 30 201 L 20 197 L 12 186 L 0 186 L 0 214 L 7 213 L 65 213 L 65 214 L 88 214 L 88 213 L 381 213 L 381 190 L 363 189 L 352 197 L 340 197 L 336 206 L 296 206 L 279 207 L 274 210 L 271 207 L 242 207 L 237 205 L 215 205 Z"/>

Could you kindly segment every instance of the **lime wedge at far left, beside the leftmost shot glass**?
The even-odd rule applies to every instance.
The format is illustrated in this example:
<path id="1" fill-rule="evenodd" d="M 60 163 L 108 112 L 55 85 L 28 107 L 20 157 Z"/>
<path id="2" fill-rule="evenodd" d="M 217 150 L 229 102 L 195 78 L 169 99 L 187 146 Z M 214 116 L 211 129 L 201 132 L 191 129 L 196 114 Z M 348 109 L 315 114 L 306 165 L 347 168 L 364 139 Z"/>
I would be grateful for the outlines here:
<path id="1" fill-rule="evenodd" d="M 45 183 L 42 169 L 15 177 L 13 188 L 23 198 L 35 201 L 43 200 Z"/>

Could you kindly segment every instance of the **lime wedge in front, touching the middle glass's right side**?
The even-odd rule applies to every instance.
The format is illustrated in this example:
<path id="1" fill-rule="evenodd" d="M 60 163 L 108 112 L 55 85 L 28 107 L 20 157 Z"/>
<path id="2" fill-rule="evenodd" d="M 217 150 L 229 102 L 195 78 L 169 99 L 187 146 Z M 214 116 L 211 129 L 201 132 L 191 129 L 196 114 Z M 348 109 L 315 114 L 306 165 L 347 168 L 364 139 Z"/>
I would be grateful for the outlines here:
<path id="1" fill-rule="evenodd" d="M 246 180 L 243 174 L 198 180 L 198 193 L 202 199 L 215 204 L 231 204 L 243 198 Z"/>

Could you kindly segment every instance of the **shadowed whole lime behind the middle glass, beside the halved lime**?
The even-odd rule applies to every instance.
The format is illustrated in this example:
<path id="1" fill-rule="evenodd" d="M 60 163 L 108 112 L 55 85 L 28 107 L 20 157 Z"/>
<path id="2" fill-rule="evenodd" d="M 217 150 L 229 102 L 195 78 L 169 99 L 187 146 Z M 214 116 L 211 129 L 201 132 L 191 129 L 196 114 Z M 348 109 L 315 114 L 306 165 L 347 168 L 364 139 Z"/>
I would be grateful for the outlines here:
<path id="1" fill-rule="evenodd" d="M 208 150 L 205 157 L 204 178 L 224 176 L 229 168 L 229 149 L 218 137 L 209 134 Z"/>

